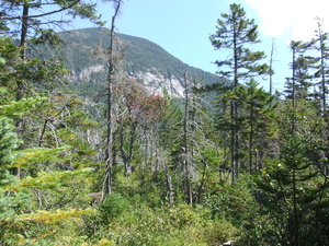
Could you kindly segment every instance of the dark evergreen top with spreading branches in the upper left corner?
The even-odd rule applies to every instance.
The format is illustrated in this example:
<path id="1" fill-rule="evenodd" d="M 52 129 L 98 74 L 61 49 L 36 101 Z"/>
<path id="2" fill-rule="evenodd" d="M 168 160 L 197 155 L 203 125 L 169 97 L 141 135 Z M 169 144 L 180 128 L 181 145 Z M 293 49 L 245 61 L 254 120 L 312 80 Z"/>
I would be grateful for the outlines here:
<path id="1" fill-rule="evenodd" d="M 55 10 L 45 11 L 49 5 Z M 21 58 L 24 61 L 27 60 L 27 43 L 30 45 L 32 42 L 35 44 L 47 43 L 52 46 L 58 44 L 59 38 L 54 28 L 66 23 L 67 20 L 56 20 L 57 13 L 65 13 L 70 17 L 89 19 L 101 24 L 99 16 L 95 15 L 95 4 L 83 1 L 1 1 L 0 8 L 2 23 L 8 30 L 7 34 L 11 33 L 11 28 L 15 30 L 18 23 L 20 25 L 19 46 L 21 47 Z M 25 91 L 29 87 L 26 85 L 24 80 L 16 81 L 18 99 L 25 97 Z M 22 128 L 22 121 L 19 121 L 18 125 Z"/>

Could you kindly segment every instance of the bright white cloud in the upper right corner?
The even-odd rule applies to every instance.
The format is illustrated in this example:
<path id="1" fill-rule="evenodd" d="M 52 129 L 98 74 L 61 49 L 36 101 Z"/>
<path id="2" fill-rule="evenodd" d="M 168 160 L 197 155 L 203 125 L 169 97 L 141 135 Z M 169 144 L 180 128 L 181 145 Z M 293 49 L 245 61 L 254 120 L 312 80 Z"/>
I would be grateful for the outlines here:
<path id="1" fill-rule="evenodd" d="M 269 36 L 290 34 L 290 39 L 309 39 L 317 30 L 315 20 L 317 16 L 324 20 L 324 31 L 329 30 L 328 0 L 245 0 L 245 2 L 257 12 L 260 31 Z"/>

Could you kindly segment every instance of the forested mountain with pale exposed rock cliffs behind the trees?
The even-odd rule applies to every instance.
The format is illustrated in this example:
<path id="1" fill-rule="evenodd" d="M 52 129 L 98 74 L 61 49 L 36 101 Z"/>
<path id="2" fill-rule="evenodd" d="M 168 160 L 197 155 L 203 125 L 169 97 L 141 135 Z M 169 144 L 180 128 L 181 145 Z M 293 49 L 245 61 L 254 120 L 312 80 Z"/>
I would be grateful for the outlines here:
<path id="1" fill-rule="evenodd" d="M 65 44 L 61 52 L 71 71 L 67 80 L 83 93 L 97 92 L 94 85 L 106 80 L 109 32 L 105 28 L 82 28 L 59 34 Z M 145 38 L 117 34 L 116 43 L 124 50 L 123 71 L 150 92 L 161 93 L 167 89 L 169 94 L 182 96 L 185 70 L 190 78 L 196 78 L 202 84 L 218 82 L 217 75 L 190 67 Z"/>

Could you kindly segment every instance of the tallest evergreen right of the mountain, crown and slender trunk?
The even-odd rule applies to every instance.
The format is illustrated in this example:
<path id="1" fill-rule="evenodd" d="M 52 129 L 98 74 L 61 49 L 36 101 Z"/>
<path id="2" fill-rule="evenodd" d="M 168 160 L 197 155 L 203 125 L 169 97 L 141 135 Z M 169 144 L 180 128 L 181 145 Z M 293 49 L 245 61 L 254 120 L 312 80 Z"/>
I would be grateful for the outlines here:
<path id="1" fill-rule="evenodd" d="M 218 73 L 223 79 L 231 79 L 230 87 L 236 87 L 248 78 L 256 74 L 266 74 L 269 67 L 258 62 L 265 58 L 263 51 L 251 51 L 249 45 L 260 43 L 258 39 L 258 26 L 253 20 L 246 16 L 245 10 L 239 4 L 230 4 L 229 13 L 223 13 L 217 21 L 217 31 L 211 36 L 211 42 L 216 49 L 228 49 L 229 56 L 225 60 L 217 60 Z M 230 162 L 232 178 L 238 176 L 239 160 L 239 104 L 235 98 L 230 99 Z"/>

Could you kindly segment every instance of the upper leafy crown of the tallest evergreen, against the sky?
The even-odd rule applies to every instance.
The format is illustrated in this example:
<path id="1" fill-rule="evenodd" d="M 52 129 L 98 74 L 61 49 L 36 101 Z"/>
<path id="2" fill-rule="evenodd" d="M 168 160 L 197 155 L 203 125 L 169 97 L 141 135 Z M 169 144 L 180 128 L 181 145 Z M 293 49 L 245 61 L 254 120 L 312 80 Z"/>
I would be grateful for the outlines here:
<path id="1" fill-rule="evenodd" d="M 231 79 L 234 86 L 240 80 L 252 78 L 254 74 L 266 74 L 269 66 L 257 62 L 265 58 L 263 51 L 251 51 L 248 45 L 260 43 L 258 39 L 258 26 L 254 20 L 246 16 L 241 5 L 232 3 L 229 13 L 223 13 L 217 21 L 217 31 L 211 36 L 212 45 L 216 49 L 228 49 L 229 56 L 225 60 L 217 60 L 220 68 L 218 73 L 224 79 Z"/>

